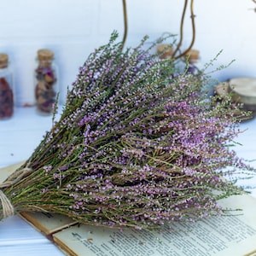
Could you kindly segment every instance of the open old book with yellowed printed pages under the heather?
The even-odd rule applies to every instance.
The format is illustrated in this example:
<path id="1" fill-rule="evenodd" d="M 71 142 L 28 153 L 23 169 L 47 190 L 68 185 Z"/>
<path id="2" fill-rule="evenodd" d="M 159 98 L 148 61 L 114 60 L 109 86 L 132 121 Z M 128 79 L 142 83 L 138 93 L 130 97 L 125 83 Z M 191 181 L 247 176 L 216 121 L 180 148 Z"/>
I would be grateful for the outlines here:
<path id="1" fill-rule="evenodd" d="M 0 182 L 15 168 L 0 169 Z M 45 212 L 21 212 L 20 216 L 67 255 L 256 256 L 256 199 L 234 195 L 220 204 L 242 211 L 195 223 L 171 223 L 160 231 L 115 230 Z"/>

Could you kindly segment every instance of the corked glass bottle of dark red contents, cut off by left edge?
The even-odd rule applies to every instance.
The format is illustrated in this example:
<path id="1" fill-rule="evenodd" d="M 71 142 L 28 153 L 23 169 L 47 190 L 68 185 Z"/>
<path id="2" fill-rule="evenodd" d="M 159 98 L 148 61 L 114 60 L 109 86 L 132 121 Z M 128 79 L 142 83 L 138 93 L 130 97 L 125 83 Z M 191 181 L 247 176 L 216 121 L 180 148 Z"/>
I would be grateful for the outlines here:
<path id="1" fill-rule="evenodd" d="M 0 54 L 0 119 L 9 119 L 14 114 L 13 72 L 9 55 Z"/>

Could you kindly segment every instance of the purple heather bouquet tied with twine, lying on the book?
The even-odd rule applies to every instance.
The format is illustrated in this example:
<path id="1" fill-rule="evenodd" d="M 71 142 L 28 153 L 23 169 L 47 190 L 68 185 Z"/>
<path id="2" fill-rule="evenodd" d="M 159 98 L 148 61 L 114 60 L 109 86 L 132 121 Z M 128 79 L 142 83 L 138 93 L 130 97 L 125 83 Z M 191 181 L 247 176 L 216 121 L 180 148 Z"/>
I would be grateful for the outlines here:
<path id="1" fill-rule="evenodd" d="M 1 218 L 46 211 L 154 229 L 225 214 L 218 200 L 243 193 L 237 176 L 253 170 L 230 148 L 239 109 L 204 96 L 201 74 L 174 75 L 144 40 L 123 52 L 117 37 L 85 61 L 61 119 L 1 185 Z"/>

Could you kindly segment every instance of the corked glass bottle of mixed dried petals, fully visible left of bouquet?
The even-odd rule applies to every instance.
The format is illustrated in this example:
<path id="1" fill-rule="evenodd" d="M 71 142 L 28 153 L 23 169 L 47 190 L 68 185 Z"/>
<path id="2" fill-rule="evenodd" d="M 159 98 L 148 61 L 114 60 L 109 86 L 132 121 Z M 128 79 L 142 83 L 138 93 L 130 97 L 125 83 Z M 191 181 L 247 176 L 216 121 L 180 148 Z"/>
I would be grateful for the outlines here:
<path id="1" fill-rule="evenodd" d="M 35 70 L 36 104 L 38 113 L 49 115 L 54 112 L 56 100 L 56 67 L 54 53 L 49 49 L 38 50 L 38 67 Z"/>

